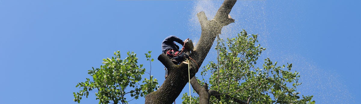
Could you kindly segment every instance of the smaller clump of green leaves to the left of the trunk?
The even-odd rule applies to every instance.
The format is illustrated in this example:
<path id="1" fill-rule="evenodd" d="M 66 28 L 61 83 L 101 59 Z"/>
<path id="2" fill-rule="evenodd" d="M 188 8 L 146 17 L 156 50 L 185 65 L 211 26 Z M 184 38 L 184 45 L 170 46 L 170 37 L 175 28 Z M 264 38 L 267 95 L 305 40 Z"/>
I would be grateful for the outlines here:
<path id="1" fill-rule="evenodd" d="M 150 53 L 147 58 L 150 58 Z M 86 78 L 85 82 L 78 83 L 77 86 L 82 90 L 74 94 L 74 101 L 80 103 L 80 100 L 85 95 L 88 97 L 89 91 L 96 90 L 96 99 L 99 99 L 99 104 L 108 103 L 122 103 L 127 104 L 125 95 L 130 94 L 133 99 L 138 99 L 139 96 L 145 96 L 150 92 L 157 90 L 157 79 L 145 78 L 143 83 L 142 75 L 145 69 L 143 65 L 137 65 L 138 58 L 134 52 L 127 52 L 128 57 L 121 60 L 120 51 L 114 52 L 112 58 L 103 59 L 103 64 L 100 68 L 92 68 L 88 70 L 88 74 L 93 77 L 92 80 Z"/>

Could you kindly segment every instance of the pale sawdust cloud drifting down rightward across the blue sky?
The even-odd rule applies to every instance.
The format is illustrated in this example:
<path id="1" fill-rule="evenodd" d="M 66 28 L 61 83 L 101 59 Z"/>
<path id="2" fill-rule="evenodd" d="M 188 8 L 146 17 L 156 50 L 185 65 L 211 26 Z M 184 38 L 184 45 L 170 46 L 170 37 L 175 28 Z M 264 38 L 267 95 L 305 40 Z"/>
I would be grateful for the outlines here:
<path id="1" fill-rule="evenodd" d="M 217 0 L 195 1 L 193 8 L 190 9 L 191 15 L 188 23 L 188 26 L 190 27 L 188 31 L 191 32 L 190 38 L 193 40 L 193 43 L 197 43 L 201 34 L 201 28 L 196 14 L 204 11 L 208 20 L 211 20 L 217 12 L 219 4 L 222 4 L 222 2 L 223 1 Z M 231 23 L 230 25 L 223 27 L 222 34 L 219 35 L 220 38 L 226 40 L 227 38 L 235 37 L 242 31 L 242 29 L 245 29 L 248 34 L 259 34 L 259 43 L 267 49 L 264 53 L 262 53 L 260 62 L 258 63 L 262 63 L 262 59 L 266 57 L 270 57 L 273 61 L 279 61 L 281 64 L 286 64 L 287 62 L 293 63 L 293 69 L 300 72 L 301 75 L 300 81 L 303 84 L 301 84 L 297 90 L 298 92 L 301 92 L 301 95 L 314 95 L 313 100 L 315 100 L 318 104 L 340 102 L 344 104 L 352 103 L 354 99 L 352 94 L 348 90 L 347 86 L 343 84 L 343 81 L 340 81 L 340 76 L 336 73 L 318 68 L 311 60 L 307 60 L 295 52 L 287 53 L 287 51 L 283 52 L 282 50 L 276 50 L 273 46 L 271 46 L 281 45 L 282 47 L 282 44 L 287 43 L 279 44 L 275 43 L 276 40 L 270 40 L 273 39 L 270 38 L 270 31 L 279 31 L 280 29 L 275 29 L 269 26 L 275 24 L 277 21 L 270 21 L 267 19 L 267 16 L 269 16 L 270 13 L 266 12 L 266 5 L 267 1 L 265 0 L 238 1 L 230 13 L 232 18 L 235 19 L 235 23 Z M 206 65 L 209 61 L 217 62 L 217 51 L 214 49 L 217 45 L 216 43 L 217 41 L 215 40 L 203 65 Z M 295 47 L 284 48 L 297 50 L 297 45 L 295 45 Z M 283 54 L 278 55 L 280 52 Z M 197 76 L 200 76 L 199 73 Z"/>

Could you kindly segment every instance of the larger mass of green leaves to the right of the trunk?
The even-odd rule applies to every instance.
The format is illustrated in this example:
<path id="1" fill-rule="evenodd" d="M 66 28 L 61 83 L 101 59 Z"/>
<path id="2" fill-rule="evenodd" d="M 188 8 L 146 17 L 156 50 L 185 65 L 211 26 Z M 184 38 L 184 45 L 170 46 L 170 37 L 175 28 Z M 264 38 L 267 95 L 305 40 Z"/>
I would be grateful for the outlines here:
<path id="1" fill-rule="evenodd" d="M 249 99 L 250 104 L 314 104 L 313 96 L 302 95 L 300 98 L 300 92 L 296 89 L 301 84 L 298 82 L 300 75 L 291 71 L 292 64 L 288 64 L 284 70 L 285 65 L 277 66 L 277 62 L 266 58 L 263 68 L 255 67 L 258 57 L 265 50 L 260 44 L 256 44 L 257 36 L 258 34 L 248 35 L 243 30 L 235 38 L 228 38 L 226 44 L 224 40 L 219 40 L 219 46 L 216 47 L 219 49 L 219 74 L 218 65 L 214 62 L 204 66 L 201 71 L 203 76 L 211 74 L 210 89 L 219 89 L 221 94 L 228 94 L 243 101 Z M 189 96 L 183 96 L 184 99 L 186 97 L 189 99 Z M 221 100 L 212 96 L 210 102 L 235 104 L 225 95 L 221 95 Z"/>

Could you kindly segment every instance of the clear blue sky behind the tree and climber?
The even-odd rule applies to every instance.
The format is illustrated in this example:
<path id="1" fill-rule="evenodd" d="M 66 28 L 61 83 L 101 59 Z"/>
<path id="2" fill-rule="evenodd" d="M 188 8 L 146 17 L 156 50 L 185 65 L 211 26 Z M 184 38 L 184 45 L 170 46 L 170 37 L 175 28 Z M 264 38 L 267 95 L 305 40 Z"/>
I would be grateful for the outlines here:
<path id="1" fill-rule="evenodd" d="M 90 78 L 114 51 L 161 53 L 169 35 L 200 37 L 195 14 L 212 19 L 222 1 L 0 0 L 0 101 L 3 104 L 77 104 L 75 85 Z M 293 63 L 299 91 L 318 104 L 360 104 L 360 0 L 237 1 L 235 23 L 221 38 L 242 29 L 259 34 L 262 58 Z M 213 60 L 211 50 L 206 61 Z M 204 64 L 203 64 L 204 65 Z M 152 62 L 162 84 L 164 66 Z M 147 75 L 144 75 L 147 76 Z M 188 91 L 188 85 L 183 92 Z M 94 93 L 81 104 L 97 104 Z M 193 94 L 196 95 L 196 94 Z M 181 96 L 181 95 L 180 95 Z M 176 104 L 180 104 L 178 97 Z M 130 104 L 143 104 L 144 98 Z"/>

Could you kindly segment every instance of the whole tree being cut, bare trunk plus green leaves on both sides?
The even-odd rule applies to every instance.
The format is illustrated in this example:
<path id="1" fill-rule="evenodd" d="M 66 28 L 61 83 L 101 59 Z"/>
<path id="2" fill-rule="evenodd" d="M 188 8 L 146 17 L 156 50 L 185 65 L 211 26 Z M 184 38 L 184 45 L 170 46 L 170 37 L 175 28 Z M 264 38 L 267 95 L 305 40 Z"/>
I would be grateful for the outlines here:
<path id="1" fill-rule="evenodd" d="M 296 71 L 291 71 L 292 64 L 288 64 L 287 70 L 283 70 L 286 65 L 277 66 L 277 62 L 273 63 L 266 58 L 262 68 L 255 66 L 265 48 L 260 44 L 256 45 L 258 35 L 252 34 L 251 37 L 245 31 L 236 38 L 227 39 L 226 43 L 220 39 L 219 46 L 216 47 L 220 56 L 218 63 L 210 62 L 202 68 L 201 75 L 212 74 L 209 79 L 210 89 L 203 79 L 203 82 L 196 79 L 195 74 L 199 71 L 199 66 L 208 55 L 216 37 L 221 34 L 222 28 L 235 21 L 230 16 L 235 3 L 235 0 L 225 0 L 212 20 L 208 20 L 204 12 L 197 13 L 202 32 L 195 49 L 189 55 L 193 59 L 189 62 L 192 67 L 184 63 L 175 65 L 163 53 L 158 56 L 158 60 L 170 73 L 161 87 L 158 88 L 157 80 L 152 78 L 151 73 L 150 79 L 144 79 L 140 83 L 145 69 L 142 65 L 137 65 L 136 54 L 128 52 L 128 57 L 121 60 L 120 52 L 117 51 L 114 52 L 116 57 L 104 59 L 104 65 L 100 68 L 89 70 L 88 74 L 93 80 L 87 78 L 85 82 L 77 84 L 76 87 L 83 90 L 73 93 L 74 101 L 79 103 L 82 96 L 87 97 L 88 91 L 95 89 L 96 99 L 102 104 L 126 104 L 130 101 L 126 100 L 126 94 L 130 94 L 133 99 L 145 96 L 145 104 L 171 104 L 181 94 L 188 78 L 191 78 L 190 83 L 199 95 L 191 98 L 195 101 L 193 103 L 314 103 L 311 101 L 312 96 L 302 96 L 300 99 L 300 92 L 296 89 L 301 84 L 298 82 L 300 75 Z M 147 60 L 153 61 L 150 55 L 145 55 Z M 186 97 L 183 99 L 183 103 L 190 100 Z"/>

